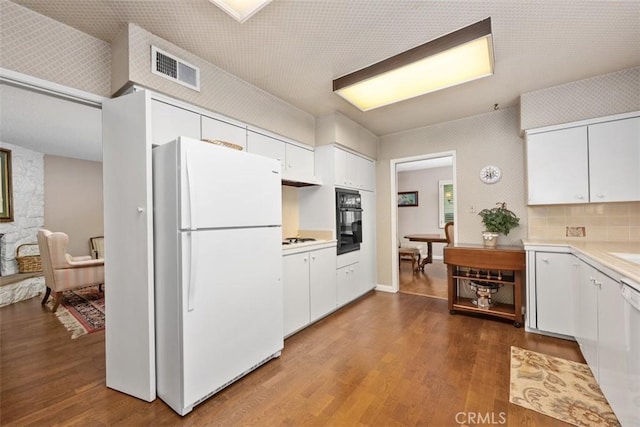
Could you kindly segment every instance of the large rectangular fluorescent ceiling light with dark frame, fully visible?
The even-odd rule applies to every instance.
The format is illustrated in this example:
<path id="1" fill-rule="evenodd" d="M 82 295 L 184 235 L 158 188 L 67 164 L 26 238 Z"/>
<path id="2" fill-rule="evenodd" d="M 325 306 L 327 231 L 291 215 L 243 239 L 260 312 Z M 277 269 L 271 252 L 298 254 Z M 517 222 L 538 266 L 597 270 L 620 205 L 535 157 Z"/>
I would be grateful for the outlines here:
<path id="1" fill-rule="evenodd" d="M 333 81 L 362 111 L 493 74 L 491 18 L 431 40 Z"/>

